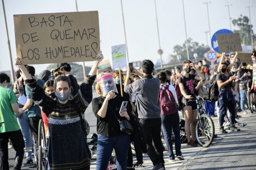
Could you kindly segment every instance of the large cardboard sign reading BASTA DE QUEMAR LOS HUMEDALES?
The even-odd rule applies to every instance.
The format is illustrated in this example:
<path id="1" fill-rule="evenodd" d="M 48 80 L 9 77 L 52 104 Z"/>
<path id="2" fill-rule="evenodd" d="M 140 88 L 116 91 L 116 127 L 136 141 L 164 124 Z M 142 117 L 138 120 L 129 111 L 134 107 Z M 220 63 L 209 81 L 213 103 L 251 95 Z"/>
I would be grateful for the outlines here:
<path id="1" fill-rule="evenodd" d="M 97 11 L 14 15 L 22 64 L 93 61 L 100 51 Z"/>

